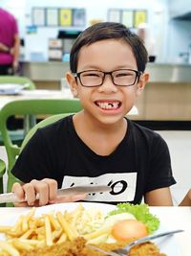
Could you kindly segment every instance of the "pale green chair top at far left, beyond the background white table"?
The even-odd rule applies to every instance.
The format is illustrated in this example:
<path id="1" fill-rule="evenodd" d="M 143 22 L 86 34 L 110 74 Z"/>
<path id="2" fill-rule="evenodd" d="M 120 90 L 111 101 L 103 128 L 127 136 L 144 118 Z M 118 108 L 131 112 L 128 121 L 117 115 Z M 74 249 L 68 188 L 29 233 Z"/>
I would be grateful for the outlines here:
<path id="1" fill-rule="evenodd" d="M 29 78 L 26 77 L 18 77 L 18 76 L 0 76 L 0 83 L 18 83 L 21 85 L 26 85 L 26 89 L 34 90 L 35 84 Z"/>

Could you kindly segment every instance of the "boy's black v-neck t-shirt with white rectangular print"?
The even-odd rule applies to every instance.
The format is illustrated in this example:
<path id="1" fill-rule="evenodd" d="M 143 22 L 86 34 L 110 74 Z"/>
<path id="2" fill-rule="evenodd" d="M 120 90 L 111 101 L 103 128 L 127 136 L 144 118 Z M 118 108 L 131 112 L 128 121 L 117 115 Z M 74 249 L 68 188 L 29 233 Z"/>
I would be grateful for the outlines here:
<path id="1" fill-rule="evenodd" d="M 73 116 L 39 128 L 11 172 L 23 182 L 53 178 L 59 188 L 109 185 L 110 193 L 90 194 L 86 200 L 140 203 L 146 192 L 176 181 L 165 141 L 157 132 L 127 122 L 123 140 L 107 156 L 97 155 L 78 137 Z"/>

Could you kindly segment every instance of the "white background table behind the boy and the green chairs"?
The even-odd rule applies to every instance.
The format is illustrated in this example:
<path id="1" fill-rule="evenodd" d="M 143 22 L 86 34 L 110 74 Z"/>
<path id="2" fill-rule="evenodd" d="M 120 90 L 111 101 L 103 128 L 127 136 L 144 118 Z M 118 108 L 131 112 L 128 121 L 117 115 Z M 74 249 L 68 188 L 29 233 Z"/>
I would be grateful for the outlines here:
<path id="1" fill-rule="evenodd" d="M 0 95 L 0 110 L 1 108 L 17 100 L 31 99 L 73 99 L 70 89 L 60 90 L 22 90 L 18 95 Z M 138 108 L 134 105 L 128 115 L 138 115 Z"/>

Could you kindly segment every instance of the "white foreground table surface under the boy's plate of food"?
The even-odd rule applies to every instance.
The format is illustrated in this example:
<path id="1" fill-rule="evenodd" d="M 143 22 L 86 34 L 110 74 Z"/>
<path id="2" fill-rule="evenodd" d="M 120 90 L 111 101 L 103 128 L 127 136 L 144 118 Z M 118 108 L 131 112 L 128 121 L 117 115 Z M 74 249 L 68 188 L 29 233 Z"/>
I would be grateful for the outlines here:
<path id="1" fill-rule="evenodd" d="M 9 220 L 15 214 L 24 213 L 29 208 L 0 207 L 0 224 Z M 191 207 L 150 207 L 151 213 L 162 221 L 168 229 L 183 229 L 185 232 L 176 234 L 176 241 L 180 244 L 182 256 L 191 255 Z M 171 256 L 171 255 L 169 255 Z M 177 255 L 172 255 L 177 256 Z"/>

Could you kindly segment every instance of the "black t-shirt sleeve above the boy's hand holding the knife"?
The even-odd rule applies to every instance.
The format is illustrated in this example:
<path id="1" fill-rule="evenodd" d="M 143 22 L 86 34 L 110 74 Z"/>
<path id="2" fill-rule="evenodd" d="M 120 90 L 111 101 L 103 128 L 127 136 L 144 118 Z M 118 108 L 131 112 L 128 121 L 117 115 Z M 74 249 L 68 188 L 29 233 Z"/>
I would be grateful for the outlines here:
<path id="1" fill-rule="evenodd" d="M 17 158 L 12 175 L 23 182 L 50 177 L 52 166 L 49 155 L 44 134 L 38 129 Z"/>

